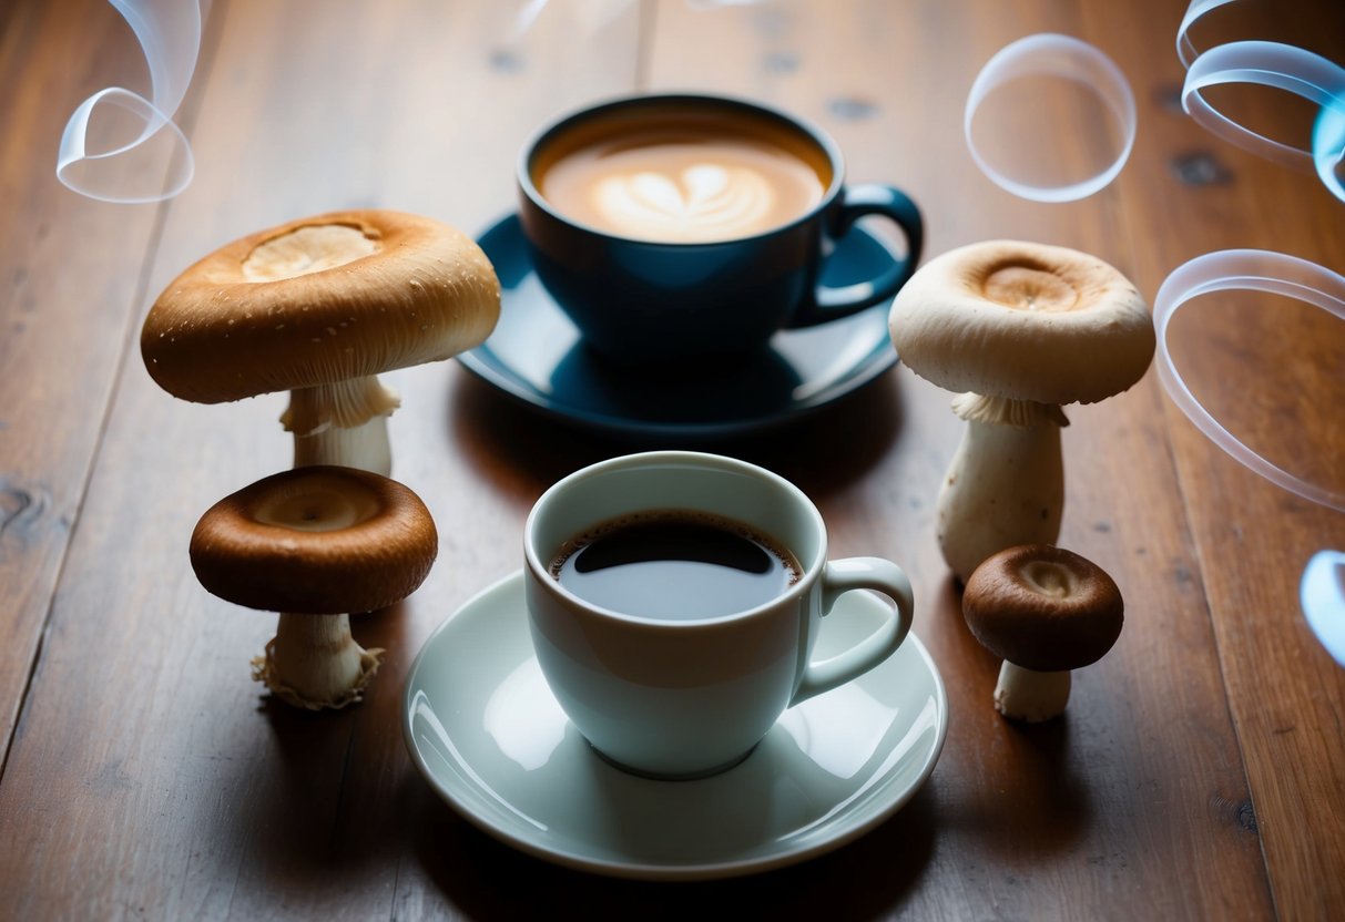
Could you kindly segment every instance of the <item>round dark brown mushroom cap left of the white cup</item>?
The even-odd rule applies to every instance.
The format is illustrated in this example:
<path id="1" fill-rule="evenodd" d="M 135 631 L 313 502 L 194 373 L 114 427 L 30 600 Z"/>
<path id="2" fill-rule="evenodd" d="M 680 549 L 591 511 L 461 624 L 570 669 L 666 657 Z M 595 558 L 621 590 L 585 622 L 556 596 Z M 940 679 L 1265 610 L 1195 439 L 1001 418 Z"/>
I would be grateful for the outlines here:
<path id="1" fill-rule="evenodd" d="M 226 496 L 191 536 L 191 566 L 207 591 L 296 614 L 399 602 L 437 554 L 434 520 L 416 493 L 367 470 L 320 465 Z"/>

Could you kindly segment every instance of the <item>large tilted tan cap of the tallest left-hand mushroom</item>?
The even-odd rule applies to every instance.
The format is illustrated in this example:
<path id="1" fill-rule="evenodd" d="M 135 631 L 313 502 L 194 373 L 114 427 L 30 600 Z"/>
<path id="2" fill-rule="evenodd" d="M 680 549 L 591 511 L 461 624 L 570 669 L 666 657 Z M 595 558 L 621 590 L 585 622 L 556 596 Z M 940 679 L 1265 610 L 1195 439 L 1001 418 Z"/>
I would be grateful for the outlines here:
<path id="1" fill-rule="evenodd" d="M 500 286 L 467 235 L 397 211 L 338 211 L 221 247 L 140 335 L 169 394 L 221 403 L 449 359 L 490 336 Z"/>

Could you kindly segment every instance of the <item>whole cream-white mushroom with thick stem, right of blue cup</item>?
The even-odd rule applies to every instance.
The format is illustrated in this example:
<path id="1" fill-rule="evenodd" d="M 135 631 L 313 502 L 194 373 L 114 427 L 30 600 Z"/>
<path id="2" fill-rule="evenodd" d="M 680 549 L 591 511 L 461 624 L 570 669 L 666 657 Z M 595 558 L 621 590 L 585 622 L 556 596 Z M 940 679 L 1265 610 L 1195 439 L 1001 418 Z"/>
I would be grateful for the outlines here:
<path id="1" fill-rule="evenodd" d="M 1077 250 L 972 243 L 921 266 L 889 316 L 902 364 L 958 391 L 967 421 L 939 491 L 939 547 L 963 582 L 1015 544 L 1050 544 L 1065 503 L 1061 405 L 1138 382 L 1154 325 L 1135 286 Z"/>

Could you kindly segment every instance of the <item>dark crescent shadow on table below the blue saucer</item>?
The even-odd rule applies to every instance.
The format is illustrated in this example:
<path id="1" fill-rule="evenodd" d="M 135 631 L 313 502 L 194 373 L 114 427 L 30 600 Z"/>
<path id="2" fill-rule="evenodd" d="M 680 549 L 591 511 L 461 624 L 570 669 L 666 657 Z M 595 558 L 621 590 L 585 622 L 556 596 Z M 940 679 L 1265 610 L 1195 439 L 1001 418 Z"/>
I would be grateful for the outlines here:
<path id="1" fill-rule="evenodd" d="M 469 375 L 460 375 L 448 421 L 467 462 L 495 478 L 504 465 L 527 485 L 526 501 L 561 477 L 597 461 L 655 449 L 713 452 L 761 465 L 823 497 L 858 480 L 886 453 L 901 429 L 897 376 L 870 384 L 798 419 L 746 435 L 594 431 L 511 401 Z M 521 484 L 522 485 L 522 484 Z"/>

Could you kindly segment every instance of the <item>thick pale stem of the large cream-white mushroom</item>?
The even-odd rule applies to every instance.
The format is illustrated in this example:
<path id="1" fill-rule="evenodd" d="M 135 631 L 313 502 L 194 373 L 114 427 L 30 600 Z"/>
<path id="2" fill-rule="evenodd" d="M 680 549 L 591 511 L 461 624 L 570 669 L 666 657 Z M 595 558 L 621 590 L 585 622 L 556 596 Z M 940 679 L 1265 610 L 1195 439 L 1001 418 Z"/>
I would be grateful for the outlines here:
<path id="1" fill-rule="evenodd" d="M 967 421 L 939 491 L 939 548 L 958 579 L 997 551 L 1052 544 L 1065 505 L 1059 406 L 960 394 Z"/>

